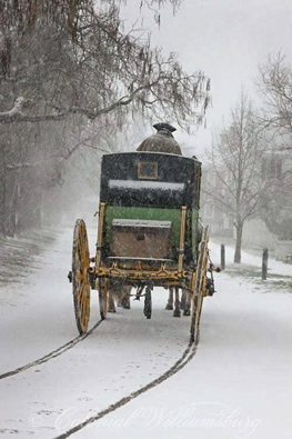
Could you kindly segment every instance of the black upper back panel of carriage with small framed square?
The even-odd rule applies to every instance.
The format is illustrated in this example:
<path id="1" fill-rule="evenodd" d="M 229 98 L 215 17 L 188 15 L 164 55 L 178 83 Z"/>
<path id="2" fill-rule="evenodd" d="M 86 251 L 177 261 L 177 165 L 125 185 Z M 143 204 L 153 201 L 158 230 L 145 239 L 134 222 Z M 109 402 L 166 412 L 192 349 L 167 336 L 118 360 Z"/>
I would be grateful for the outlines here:
<path id="1" fill-rule="evenodd" d="M 101 200 L 124 206 L 199 206 L 201 162 L 163 152 L 104 154 Z"/>

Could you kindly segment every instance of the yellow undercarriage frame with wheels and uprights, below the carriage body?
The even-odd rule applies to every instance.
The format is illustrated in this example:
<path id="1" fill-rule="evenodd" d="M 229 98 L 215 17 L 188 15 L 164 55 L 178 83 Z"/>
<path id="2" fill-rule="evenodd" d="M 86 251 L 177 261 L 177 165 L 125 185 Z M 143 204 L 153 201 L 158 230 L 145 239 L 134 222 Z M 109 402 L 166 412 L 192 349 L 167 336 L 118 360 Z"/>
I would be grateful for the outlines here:
<path id="1" fill-rule="evenodd" d="M 190 333 L 191 340 L 194 341 L 199 336 L 199 325 L 203 298 L 210 296 L 210 280 L 208 272 L 211 271 L 209 266 L 208 252 L 208 228 L 203 230 L 202 239 L 199 246 L 199 258 L 197 267 L 183 267 L 183 242 L 185 228 L 181 228 L 181 248 L 177 266 L 173 261 L 159 260 L 134 260 L 133 258 L 120 258 L 114 261 L 101 261 L 101 250 L 103 240 L 103 214 L 105 204 L 100 208 L 99 231 L 95 257 L 90 258 L 87 228 L 83 220 L 78 220 L 74 229 L 72 271 L 70 280 L 73 283 L 73 298 L 77 326 L 80 333 L 85 333 L 90 317 L 90 291 L 98 290 L 99 307 L 101 319 L 107 318 L 110 300 L 110 285 L 118 283 L 121 288 L 124 286 L 137 288 L 135 299 L 144 298 L 143 313 L 150 319 L 152 315 L 152 291 L 154 287 L 164 287 L 175 291 L 175 305 L 178 306 L 178 292 L 181 289 L 187 295 L 187 312 L 191 315 Z M 184 221 L 185 209 L 182 208 L 182 225 Z M 175 308 L 177 309 L 177 308 Z M 174 310 L 175 316 L 175 310 Z M 178 311 L 177 311 L 177 316 Z"/>

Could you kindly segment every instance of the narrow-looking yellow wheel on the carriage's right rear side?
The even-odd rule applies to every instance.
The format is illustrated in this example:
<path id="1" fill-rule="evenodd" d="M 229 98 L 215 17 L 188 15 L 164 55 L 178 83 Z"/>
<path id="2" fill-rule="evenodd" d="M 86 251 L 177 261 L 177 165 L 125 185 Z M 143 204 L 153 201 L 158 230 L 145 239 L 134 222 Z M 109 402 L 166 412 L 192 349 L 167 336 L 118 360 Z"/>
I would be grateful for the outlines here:
<path id="1" fill-rule="evenodd" d="M 192 296 L 192 317 L 191 317 L 191 341 L 198 340 L 200 319 L 202 313 L 203 298 L 207 288 L 208 271 L 208 241 L 209 228 L 207 227 L 202 233 L 202 240 L 199 246 L 199 259 L 195 269 L 195 282 Z"/>

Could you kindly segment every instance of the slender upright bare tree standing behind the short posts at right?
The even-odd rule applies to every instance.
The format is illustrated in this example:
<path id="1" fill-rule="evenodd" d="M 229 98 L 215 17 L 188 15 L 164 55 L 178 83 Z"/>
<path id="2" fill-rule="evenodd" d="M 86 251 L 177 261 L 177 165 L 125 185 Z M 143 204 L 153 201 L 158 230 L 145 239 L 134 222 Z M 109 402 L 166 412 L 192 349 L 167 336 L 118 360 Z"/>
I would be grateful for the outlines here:
<path id="1" fill-rule="evenodd" d="M 208 182 L 204 191 L 218 206 L 233 218 L 236 231 L 234 262 L 241 262 L 241 245 L 244 222 L 259 207 L 266 189 L 261 176 L 262 142 L 252 104 L 242 93 L 240 102 L 231 111 L 230 124 L 222 129 L 211 151 L 212 168 L 223 188 L 221 193 Z"/>

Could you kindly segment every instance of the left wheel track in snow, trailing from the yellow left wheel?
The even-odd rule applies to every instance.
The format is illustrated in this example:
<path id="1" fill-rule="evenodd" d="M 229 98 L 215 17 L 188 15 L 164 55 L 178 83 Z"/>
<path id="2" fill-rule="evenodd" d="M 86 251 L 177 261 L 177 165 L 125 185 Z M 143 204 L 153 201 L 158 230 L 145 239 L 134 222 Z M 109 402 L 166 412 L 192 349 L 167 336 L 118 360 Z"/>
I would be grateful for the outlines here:
<path id="1" fill-rule="evenodd" d="M 9 377 L 13 377 L 14 375 L 24 372 L 28 369 L 31 369 L 34 366 L 40 366 L 44 362 L 48 362 L 49 360 L 52 360 L 53 358 L 57 358 L 61 356 L 62 353 L 67 352 L 68 350 L 72 349 L 75 345 L 80 343 L 83 341 L 85 338 L 88 338 L 102 322 L 102 320 L 99 320 L 95 325 L 93 325 L 92 328 L 82 336 L 77 336 L 72 338 L 71 340 L 67 341 L 67 343 L 60 346 L 59 348 L 52 350 L 49 353 L 46 353 L 46 356 L 38 358 L 37 360 L 33 360 L 31 362 L 28 362 L 27 365 L 20 366 L 17 369 L 9 370 L 8 372 L 1 373 L 0 375 L 0 380 Z"/>

